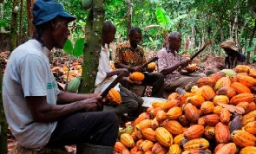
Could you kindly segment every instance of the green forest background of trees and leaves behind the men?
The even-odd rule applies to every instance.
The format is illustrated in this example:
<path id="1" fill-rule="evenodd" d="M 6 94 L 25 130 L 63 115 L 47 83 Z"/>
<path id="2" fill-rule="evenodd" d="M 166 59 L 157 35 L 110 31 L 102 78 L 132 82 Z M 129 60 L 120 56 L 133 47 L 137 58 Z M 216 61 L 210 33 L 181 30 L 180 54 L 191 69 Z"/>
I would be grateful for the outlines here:
<path id="1" fill-rule="evenodd" d="M 143 48 L 150 53 L 155 53 L 166 42 L 167 34 L 177 30 L 182 35 L 181 53 L 192 55 L 205 43 L 211 41 L 211 48 L 200 54 L 200 58 L 207 55 L 225 56 L 224 51 L 220 49 L 220 42 L 233 39 L 237 46 L 241 48 L 241 52 L 246 55 L 247 64 L 255 64 L 256 61 L 255 0 L 57 1 L 62 3 L 70 14 L 76 16 L 76 21 L 69 25 L 71 30 L 70 40 L 73 43 L 81 38 L 89 37 L 88 34 L 92 34 L 90 31 L 100 31 L 100 35 L 102 31 L 102 28 L 92 30 L 95 25 L 90 25 L 90 23 L 96 24 L 98 20 L 95 20 L 95 16 L 90 15 L 91 11 L 82 7 L 81 3 L 83 2 L 83 4 L 93 3 L 93 6 L 89 7 L 92 10 L 96 8 L 95 6 L 99 6 L 97 9 L 100 10 L 101 19 L 115 24 L 117 28 L 115 45 L 127 41 L 128 29 L 136 26 L 141 28 L 143 32 L 143 41 L 141 42 Z M 33 34 L 31 6 L 34 2 L 35 0 L 0 0 L 1 53 L 12 51 L 16 46 L 31 38 Z M 103 7 L 101 3 L 103 3 Z M 102 25 L 102 22 L 99 25 Z M 99 42 L 100 35 L 97 36 L 98 40 L 95 40 L 95 43 Z M 98 44 L 99 48 L 100 43 Z M 64 53 L 62 50 L 59 52 Z M 79 56 L 82 57 L 82 55 Z M 83 57 L 85 57 L 85 54 Z M 88 56 L 88 59 L 93 59 L 92 57 L 94 56 Z M 97 56 L 94 58 L 94 60 L 98 59 Z M 91 63 L 95 63 L 95 61 L 92 61 L 83 61 L 85 63 L 82 67 L 82 70 L 85 70 L 84 73 L 95 74 L 96 65 L 91 69 L 88 68 Z M 88 80 L 89 84 L 94 87 L 94 84 L 92 84 L 94 80 L 91 80 L 91 78 Z M 0 82 L 2 83 L 1 80 Z M 3 129 L 3 127 L 6 128 L 6 121 L 3 119 L 3 109 L 0 109 L 0 111 L 2 127 L 0 147 L 4 147 L 6 138 L 3 138 L 3 134 L 6 134 L 6 129 Z"/>

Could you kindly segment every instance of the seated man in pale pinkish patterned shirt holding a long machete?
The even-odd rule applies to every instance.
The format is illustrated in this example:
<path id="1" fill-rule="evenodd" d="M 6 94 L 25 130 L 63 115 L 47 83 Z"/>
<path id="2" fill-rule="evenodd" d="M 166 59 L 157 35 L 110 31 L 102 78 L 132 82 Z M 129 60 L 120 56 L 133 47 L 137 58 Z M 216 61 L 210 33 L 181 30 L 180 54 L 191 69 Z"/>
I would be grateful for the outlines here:
<path id="1" fill-rule="evenodd" d="M 157 52 L 158 70 L 165 75 L 164 88 L 170 92 L 174 92 L 177 87 L 190 90 L 200 77 L 206 76 L 206 74 L 191 74 L 192 72 L 182 69 L 188 66 L 190 60 L 181 60 L 178 54 L 180 48 L 181 35 L 174 31 L 168 36 L 168 45 Z"/>

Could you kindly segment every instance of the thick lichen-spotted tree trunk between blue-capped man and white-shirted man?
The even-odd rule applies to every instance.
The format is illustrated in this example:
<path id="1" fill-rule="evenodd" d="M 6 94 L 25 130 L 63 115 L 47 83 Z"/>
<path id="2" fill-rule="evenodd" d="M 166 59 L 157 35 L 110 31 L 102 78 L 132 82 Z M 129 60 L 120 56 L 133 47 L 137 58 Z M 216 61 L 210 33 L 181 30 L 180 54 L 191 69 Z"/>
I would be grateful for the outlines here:
<path id="1" fill-rule="evenodd" d="M 102 26 L 105 17 L 104 0 L 93 0 L 86 21 L 82 63 L 82 83 L 79 93 L 93 93 L 102 48 Z"/>

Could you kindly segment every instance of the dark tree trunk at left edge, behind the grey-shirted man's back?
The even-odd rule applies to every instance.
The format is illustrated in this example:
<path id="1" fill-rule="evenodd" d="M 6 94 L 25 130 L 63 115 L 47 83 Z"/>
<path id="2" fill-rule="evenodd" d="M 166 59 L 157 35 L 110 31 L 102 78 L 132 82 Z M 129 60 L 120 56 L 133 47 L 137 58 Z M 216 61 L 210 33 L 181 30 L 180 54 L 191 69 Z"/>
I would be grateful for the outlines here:
<path id="1" fill-rule="evenodd" d="M 1 62 L 2 63 L 2 62 Z M 2 99 L 2 67 L 0 68 L 0 153 L 7 153 L 7 131 L 8 125 L 6 122 L 4 110 L 3 110 L 3 99 Z"/>

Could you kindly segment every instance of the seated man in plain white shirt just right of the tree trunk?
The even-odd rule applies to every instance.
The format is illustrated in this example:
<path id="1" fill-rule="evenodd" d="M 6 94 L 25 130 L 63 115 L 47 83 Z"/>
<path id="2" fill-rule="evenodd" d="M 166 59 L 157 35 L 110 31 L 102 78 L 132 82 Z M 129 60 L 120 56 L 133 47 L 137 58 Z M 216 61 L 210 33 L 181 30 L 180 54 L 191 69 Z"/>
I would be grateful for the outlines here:
<path id="1" fill-rule="evenodd" d="M 115 69 L 111 71 L 109 66 L 109 52 L 105 44 L 113 42 L 115 38 L 115 26 L 110 22 L 103 23 L 102 29 L 102 51 L 99 60 L 98 72 L 95 80 L 95 93 L 103 92 L 110 83 L 115 80 L 116 75 L 122 72 L 128 72 L 127 69 Z M 123 78 L 123 80 L 128 81 L 128 77 Z M 115 112 L 116 114 L 121 113 L 132 113 L 136 112 L 138 107 L 142 105 L 143 99 L 132 93 L 125 87 L 121 87 L 120 84 L 114 87 L 116 90 L 120 91 L 121 95 L 121 105 L 119 106 L 104 106 L 103 111 Z"/>

